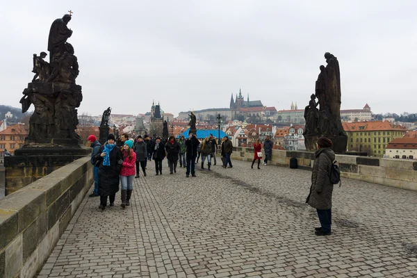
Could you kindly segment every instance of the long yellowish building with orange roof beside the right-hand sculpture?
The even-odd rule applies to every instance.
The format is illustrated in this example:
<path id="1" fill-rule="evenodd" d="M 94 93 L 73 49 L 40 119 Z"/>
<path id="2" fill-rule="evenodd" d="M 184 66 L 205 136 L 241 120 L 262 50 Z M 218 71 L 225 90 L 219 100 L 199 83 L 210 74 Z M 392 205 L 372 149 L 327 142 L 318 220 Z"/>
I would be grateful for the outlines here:
<path id="1" fill-rule="evenodd" d="M 347 150 L 384 157 L 389 142 L 402 138 L 406 129 L 391 122 L 343 122 L 347 134 Z"/>

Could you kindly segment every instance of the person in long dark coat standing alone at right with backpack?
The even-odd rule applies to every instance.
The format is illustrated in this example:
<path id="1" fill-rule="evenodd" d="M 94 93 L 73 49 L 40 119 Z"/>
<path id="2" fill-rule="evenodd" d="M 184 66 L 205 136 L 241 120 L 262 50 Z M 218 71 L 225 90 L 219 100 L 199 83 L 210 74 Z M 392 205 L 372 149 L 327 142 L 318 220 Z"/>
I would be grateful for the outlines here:
<path id="1" fill-rule="evenodd" d="M 318 219 L 321 227 L 315 228 L 317 236 L 328 236 L 332 234 L 332 170 L 333 161 L 336 158 L 332 151 L 332 140 L 320 137 L 317 141 L 316 159 L 313 163 L 313 174 L 311 174 L 310 194 L 306 203 L 317 209 Z"/>

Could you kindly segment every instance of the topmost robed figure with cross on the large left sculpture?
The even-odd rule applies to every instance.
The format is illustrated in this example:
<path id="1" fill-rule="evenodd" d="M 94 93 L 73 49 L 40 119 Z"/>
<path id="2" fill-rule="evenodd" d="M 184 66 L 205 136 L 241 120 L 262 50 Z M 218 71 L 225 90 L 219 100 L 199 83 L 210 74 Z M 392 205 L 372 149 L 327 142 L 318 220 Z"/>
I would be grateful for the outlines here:
<path id="1" fill-rule="evenodd" d="M 63 18 L 55 19 L 49 30 L 48 51 L 51 63 L 65 51 L 65 42 L 71 37 L 72 30 L 67 27 L 71 15 L 64 15 Z"/>

